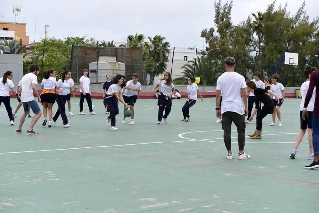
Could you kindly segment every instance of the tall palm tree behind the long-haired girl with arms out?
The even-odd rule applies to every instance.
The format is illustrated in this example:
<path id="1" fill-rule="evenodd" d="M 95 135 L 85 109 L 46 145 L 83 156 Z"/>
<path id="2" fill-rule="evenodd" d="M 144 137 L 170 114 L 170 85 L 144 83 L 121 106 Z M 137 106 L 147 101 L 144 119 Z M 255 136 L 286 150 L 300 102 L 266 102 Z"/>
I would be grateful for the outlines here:
<path id="1" fill-rule="evenodd" d="M 155 76 L 163 74 L 166 70 L 170 43 L 165 41 L 166 38 L 160 35 L 156 35 L 153 38 L 148 36 L 148 39 L 150 41 L 148 61 L 154 64 L 154 67 L 147 70 L 147 73 L 151 75 L 150 84 L 152 84 Z"/>

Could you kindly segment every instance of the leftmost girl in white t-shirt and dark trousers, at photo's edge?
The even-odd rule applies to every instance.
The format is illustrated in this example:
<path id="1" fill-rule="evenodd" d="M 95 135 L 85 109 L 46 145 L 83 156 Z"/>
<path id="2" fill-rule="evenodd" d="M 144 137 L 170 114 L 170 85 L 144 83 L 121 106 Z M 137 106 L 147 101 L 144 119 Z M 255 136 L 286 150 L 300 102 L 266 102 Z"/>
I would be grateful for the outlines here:
<path id="1" fill-rule="evenodd" d="M 12 108 L 10 105 L 10 91 L 15 94 L 14 85 L 11 81 L 12 71 L 4 72 L 3 78 L 0 78 L 0 106 L 3 102 L 5 109 L 7 110 L 10 125 L 13 126 L 14 116 L 12 114 Z"/>

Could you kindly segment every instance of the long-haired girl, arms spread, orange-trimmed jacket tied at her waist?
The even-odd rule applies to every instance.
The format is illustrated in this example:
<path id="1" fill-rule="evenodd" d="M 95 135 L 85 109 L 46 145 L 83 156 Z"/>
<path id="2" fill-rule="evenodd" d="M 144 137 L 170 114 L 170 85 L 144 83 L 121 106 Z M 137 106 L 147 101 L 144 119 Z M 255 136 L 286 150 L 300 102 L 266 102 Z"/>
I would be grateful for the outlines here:
<path id="1" fill-rule="evenodd" d="M 171 112 L 172 108 L 172 95 L 176 93 L 175 86 L 172 81 L 172 77 L 170 72 L 164 73 L 164 78 L 161 79 L 156 86 L 152 89 L 152 92 L 155 92 L 157 87 L 161 86 L 161 95 L 158 95 L 158 118 L 157 124 L 161 124 L 162 118 L 164 118 L 164 122 L 167 123 L 167 117 Z M 165 114 L 163 116 L 163 111 L 165 110 Z"/>

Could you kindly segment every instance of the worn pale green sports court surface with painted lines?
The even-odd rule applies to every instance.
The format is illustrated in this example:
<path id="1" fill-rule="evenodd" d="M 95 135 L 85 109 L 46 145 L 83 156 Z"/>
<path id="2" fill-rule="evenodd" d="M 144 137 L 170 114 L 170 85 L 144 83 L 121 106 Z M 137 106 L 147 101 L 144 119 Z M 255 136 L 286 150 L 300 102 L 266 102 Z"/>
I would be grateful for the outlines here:
<path id="1" fill-rule="evenodd" d="M 319 169 L 306 170 L 307 136 L 296 159 L 290 151 L 299 132 L 300 99 L 286 99 L 283 126 L 264 118 L 263 138 L 249 139 L 249 160 L 227 160 L 221 124 L 215 124 L 215 98 L 200 100 L 182 122 L 185 99 L 174 100 L 168 123 L 157 125 L 157 100 L 138 99 L 135 125 L 118 131 L 105 124 L 102 100 L 93 100 L 97 115 L 78 114 L 72 99 L 70 128 L 61 118 L 52 128 L 42 118 L 26 134 L 16 134 L 0 108 L 0 213 L 308 213 L 317 212 Z M 11 99 L 15 109 L 17 101 Z M 54 110 L 56 110 L 56 104 Z M 129 120 L 128 120 L 129 121 Z M 278 122 L 276 121 L 276 124 Z M 233 124 L 233 153 L 238 151 Z"/>

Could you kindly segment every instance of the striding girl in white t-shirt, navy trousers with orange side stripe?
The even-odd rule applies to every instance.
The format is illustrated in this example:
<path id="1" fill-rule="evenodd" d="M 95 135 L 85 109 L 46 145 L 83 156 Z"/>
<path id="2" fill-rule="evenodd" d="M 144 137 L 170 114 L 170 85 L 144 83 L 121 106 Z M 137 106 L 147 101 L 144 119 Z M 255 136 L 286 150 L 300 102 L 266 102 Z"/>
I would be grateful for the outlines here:
<path id="1" fill-rule="evenodd" d="M 74 82 L 71 78 L 71 71 L 64 71 L 62 78 L 58 80 L 56 84 L 56 89 L 58 90 L 56 95 L 56 102 L 59 106 L 53 119 L 53 126 L 55 126 L 56 120 L 61 114 L 63 127 L 67 128 L 70 125 L 68 124 L 68 118 L 65 114 L 65 103 L 68 100 L 68 95 L 71 94 L 71 91 L 77 90 L 77 87 L 74 87 Z"/>

